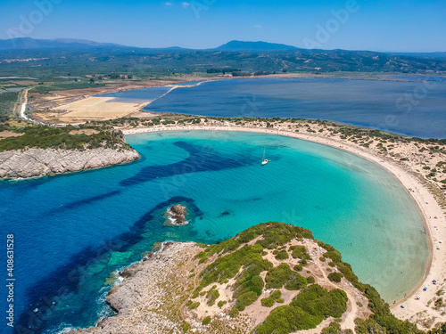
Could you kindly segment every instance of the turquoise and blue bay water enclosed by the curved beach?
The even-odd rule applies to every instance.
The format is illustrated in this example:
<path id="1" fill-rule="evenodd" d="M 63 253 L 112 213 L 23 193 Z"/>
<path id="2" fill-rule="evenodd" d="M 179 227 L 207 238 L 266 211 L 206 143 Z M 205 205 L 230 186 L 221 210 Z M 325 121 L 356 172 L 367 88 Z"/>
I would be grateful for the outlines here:
<path id="1" fill-rule="evenodd" d="M 311 229 L 389 302 L 423 277 L 421 216 L 401 184 L 367 160 L 268 134 L 127 139 L 142 155 L 135 163 L 0 183 L 0 227 L 16 240 L 19 325 L 31 319 L 45 333 L 93 325 L 112 314 L 104 298 L 115 272 L 155 242 L 217 242 L 267 221 Z M 272 161 L 261 167 L 264 148 Z M 165 209 L 178 202 L 190 208 L 191 223 L 164 226 Z"/>

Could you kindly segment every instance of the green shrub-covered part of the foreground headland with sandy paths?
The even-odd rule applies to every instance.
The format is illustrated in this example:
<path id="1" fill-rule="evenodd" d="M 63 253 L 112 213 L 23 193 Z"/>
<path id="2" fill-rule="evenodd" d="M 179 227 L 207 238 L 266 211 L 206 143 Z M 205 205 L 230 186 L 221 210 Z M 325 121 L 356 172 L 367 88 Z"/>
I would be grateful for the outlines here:
<path id="1" fill-rule="evenodd" d="M 200 284 L 186 304 L 197 310 L 190 311 L 191 317 L 210 314 L 212 319 L 215 312 L 209 306 L 216 304 L 232 318 L 257 318 L 254 328 L 241 332 L 285 334 L 318 328 L 328 320 L 333 323 L 322 332 L 422 333 L 396 319 L 335 248 L 301 227 L 260 224 L 197 257 L 209 265 L 198 274 Z M 218 332 L 209 323 L 211 332 Z"/>

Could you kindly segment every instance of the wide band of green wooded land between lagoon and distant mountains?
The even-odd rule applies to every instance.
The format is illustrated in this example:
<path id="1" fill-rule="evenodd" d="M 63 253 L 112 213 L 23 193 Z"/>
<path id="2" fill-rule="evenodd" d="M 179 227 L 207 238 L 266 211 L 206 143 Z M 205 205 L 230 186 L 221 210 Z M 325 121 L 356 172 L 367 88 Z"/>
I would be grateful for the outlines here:
<path id="1" fill-rule="evenodd" d="M 235 45 L 237 46 L 237 45 Z M 403 72 L 446 70 L 444 59 L 346 50 L 224 50 L 153 49 L 35 49 L 0 53 L 1 77 L 27 76 L 40 80 L 92 74 L 137 77 L 206 73 L 209 69 L 244 72 Z M 254 45 L 251 47 L 259 47 Z M 266 47 L 266 46 L 260 46 Z M 228 51 L 226 51 L 228 50 Z M 31 61 L 23 61 L 31 59 Z"/>

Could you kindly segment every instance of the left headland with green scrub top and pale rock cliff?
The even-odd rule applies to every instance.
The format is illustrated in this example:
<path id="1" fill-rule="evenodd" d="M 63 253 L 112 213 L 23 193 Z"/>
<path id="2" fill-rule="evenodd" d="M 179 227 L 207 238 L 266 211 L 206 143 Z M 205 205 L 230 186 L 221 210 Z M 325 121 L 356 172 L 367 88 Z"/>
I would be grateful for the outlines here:
<path id="1" fill-rule="evenodd" d="M 139 159 L 118 130 L 37 126 L 12 134 L 0 140 L 0 178 L 65 174 Z"/>

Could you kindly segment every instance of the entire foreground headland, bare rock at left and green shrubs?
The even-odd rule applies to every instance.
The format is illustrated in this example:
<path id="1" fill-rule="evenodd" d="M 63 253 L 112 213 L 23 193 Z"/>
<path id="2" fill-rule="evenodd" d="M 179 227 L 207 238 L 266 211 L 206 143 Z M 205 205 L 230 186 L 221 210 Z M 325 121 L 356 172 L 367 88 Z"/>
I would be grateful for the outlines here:
<path id="1" fill-rule="evenodd" d="M 120 275 L 107 297 L 117 314 L 69 334 L 423 333 L 393 317 L 335 248 L 288 224 L 212 246 L 169 242 Z"/>

